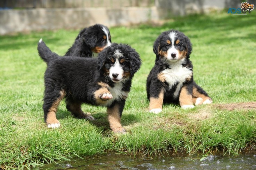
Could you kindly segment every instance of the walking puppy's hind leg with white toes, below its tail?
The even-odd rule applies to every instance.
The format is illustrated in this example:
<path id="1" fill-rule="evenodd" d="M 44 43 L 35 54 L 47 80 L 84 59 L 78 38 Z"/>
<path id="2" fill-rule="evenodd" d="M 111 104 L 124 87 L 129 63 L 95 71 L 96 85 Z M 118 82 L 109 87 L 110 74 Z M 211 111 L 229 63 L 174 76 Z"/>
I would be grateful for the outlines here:
<path id="1" fill-rule="evenodd" d="M 59 94 L 53 94 L 45 92 L 44 95 L 44 121 L 47 124 L 48 128 L 59 128 L 60 122 L 56 118 L 56 112 L 59 105 L 59 102 L 64 98 L 65 91 L 59 91 Z"/>

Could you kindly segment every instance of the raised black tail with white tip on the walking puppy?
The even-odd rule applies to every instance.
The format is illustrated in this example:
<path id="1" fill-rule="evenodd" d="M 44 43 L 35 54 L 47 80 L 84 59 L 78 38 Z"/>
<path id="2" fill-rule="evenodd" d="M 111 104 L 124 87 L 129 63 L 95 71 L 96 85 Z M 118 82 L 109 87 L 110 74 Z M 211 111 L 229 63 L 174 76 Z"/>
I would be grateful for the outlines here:
<path id="1" fill-rule="evenodd" d="M 50 60 L 58 57 L 58 54 L 52 52 L 46 44 L 43 42 L 42 38 L 38 42 L 38 54 L 44 60 L 44 62 L 49 63 Z"/>

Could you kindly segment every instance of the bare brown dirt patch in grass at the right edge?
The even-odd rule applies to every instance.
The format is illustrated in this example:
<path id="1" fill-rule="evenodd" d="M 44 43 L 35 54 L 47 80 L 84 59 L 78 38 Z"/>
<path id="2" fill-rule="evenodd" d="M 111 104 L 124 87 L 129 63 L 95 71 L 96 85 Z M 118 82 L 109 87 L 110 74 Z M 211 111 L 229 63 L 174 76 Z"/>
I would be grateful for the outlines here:
<path id="1" fill-rule="evenodd" d="M 247 102 L 247 103 L 228 103 L 228 104 L 220 104 L 217 108 L 222 110 L 251 110 L 256 109 L 256 102 Z"/>

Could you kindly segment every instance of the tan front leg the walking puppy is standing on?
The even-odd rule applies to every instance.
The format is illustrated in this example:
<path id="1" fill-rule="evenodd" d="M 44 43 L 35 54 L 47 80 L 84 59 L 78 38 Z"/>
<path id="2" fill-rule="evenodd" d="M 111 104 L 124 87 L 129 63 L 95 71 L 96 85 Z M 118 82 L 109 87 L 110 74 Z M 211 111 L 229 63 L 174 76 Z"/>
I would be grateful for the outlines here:
<path id="1" fill-rule="evenodd" d="M 115 104 L 114 107 L 107 108 L 107 113 L 108 113 L 108 121 L 109 121 L 110 129 L 112 129 L 113 132 L 125 133 L 125 129 L 122 128 L 122 125 L 121 125 L 119 105 Z"/>

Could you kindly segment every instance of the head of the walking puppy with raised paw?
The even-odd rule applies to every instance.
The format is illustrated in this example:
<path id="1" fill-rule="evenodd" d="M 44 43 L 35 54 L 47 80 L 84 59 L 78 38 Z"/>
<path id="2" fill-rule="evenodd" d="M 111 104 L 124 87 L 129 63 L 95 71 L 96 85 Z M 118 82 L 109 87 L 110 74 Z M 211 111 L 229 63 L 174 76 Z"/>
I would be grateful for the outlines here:
<path id="1" fill-rule="evenodd" d="M 126 81 L 140 69 L 139 54 L 129 45 L 113 43 L 98 57 L 99 69 L 114 83 Z"/>

